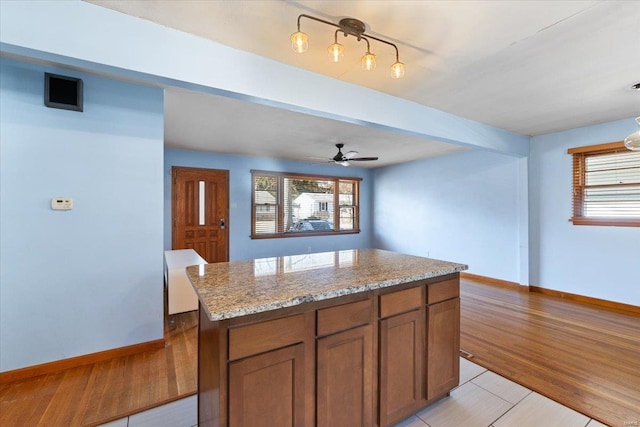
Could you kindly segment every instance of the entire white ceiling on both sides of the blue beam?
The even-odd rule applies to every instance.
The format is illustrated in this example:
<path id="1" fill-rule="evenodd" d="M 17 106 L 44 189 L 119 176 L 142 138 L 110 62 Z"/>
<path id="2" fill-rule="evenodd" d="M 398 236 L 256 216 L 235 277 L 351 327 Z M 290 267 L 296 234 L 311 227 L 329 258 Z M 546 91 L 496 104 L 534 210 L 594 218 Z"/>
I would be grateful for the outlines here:
<path id="1" fill-rule="evenodd" d="M 522 135 L 640 115 L 640 92 L 630 88 L 640 82 L 640 1 L 90 2 Z M 309 51 L 294 53 L 301 13 L 364 21 L 367 33 L 398 45 L 405 78 L 389 77 L 395 52 L 376 41 L 373 72 L 360 69 L 365 46 L 354 37 L 340 38 L 345 60 L 330 63 L 334 29 L 304 18 Z M 344 142 L 379 156 L 358 164 L 370 167 L 463 149 L 175 89 L 165 113 L 170 147 L 305 161 Z"/>

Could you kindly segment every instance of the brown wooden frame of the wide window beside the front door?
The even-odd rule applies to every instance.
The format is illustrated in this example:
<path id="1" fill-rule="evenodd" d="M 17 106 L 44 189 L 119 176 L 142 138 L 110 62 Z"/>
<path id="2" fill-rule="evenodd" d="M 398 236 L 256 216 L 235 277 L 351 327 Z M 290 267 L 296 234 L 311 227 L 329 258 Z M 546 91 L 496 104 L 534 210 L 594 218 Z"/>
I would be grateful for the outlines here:
<path id="1" fill-rule="evenodd" d="M 276 224 L 279 228 L 275 233 L 256 233 L 256 176 L 268 176 L 276 179 Z M 304 231 L 294 232 L 285 231 L 284 227 L 284 180 L 289 179 L 308 179 L 317 181 L 333 181 L 333 227 L 331 231 Z M 340 182 L 352 181 L 353 182 L 353 205 L 350 205 L 354 209 L 353 215 L 353 229 L 340 230 Z M 360 233 L 360 177 L 347 177 L 347 176 L 331 176 L 331 175 L 315 175 L 306 173 L 294 173 L 294 172 L 274 172 L 264 170 L 251 170 L 251 239 L 275 239 L 282 237 L 307 237 L 307 236 L 335 236 L 343 234 L 358 234 Z"/>

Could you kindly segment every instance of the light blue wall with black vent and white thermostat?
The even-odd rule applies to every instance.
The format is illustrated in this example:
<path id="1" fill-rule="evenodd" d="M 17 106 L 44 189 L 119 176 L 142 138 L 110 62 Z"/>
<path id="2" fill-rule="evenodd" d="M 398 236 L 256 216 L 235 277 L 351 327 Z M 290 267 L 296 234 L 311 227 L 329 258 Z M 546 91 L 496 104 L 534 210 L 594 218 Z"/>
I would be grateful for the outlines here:
<path id="1" fill-rule="evenodd" d="M 161 339 L 162 90 L 2 58 L 0 100 L 0 370 Z"/>

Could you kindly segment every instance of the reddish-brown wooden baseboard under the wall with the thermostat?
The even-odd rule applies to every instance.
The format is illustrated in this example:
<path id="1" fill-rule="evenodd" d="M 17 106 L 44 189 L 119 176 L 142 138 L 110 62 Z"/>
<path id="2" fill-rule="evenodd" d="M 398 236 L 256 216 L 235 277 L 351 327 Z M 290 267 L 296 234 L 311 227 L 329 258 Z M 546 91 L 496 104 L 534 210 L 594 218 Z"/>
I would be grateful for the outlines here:
<path id="1" fill-rule="evenodd" d="M 27 366 L 25 368 L 14 369 L 12 371 L 0 372 L 0 384 L 22 381 L 39 375 L 52 374 L 54 372 L 64 371 L 65 369 L 104 362 L 117 357 L 131 356 L 145 351 L 158 350 L 164 348 L 164 346 L 164 338 L 162 338 L 140 344 L 118 347 L 111 350 L 99 351 L 97 353 L 70 357 L 69 359 L 56 360 L 54 362 L 43 363 L 41 365 Z"/>

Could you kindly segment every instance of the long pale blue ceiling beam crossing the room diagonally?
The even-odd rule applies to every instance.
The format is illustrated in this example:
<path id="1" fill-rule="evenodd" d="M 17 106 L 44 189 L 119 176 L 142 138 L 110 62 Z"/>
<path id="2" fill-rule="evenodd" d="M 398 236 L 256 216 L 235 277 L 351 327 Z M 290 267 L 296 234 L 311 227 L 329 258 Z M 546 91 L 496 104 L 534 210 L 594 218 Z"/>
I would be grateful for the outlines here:
<path id="1" fill-rule="evenodd" d="M 93 4 L 20 1 L 0 2 L 0 8 L 0 51 L 5 55 L 518 157 L 529 154 L 527 136 Z"/>

